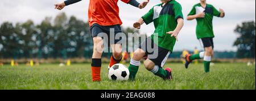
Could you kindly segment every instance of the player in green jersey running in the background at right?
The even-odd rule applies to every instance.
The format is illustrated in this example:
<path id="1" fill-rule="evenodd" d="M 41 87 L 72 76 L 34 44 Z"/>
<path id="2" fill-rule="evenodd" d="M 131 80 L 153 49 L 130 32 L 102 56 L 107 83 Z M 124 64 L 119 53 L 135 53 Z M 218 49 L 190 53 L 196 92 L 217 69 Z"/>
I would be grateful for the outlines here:
<path id="1" fill-rule="evenodd" d="M 204 72 L 210 72 L 210 61 L 212 59 L 214 49 L 212 25 L 213 16 L 224 17 L 225 12 L 222 9 L 218 11 L 212 5 L 207 4 L 206 0 L 200 0 L 200 3 L 193 6 L 191 12 L 189 12 L 187 20 L 196 19 L 196 36 L 197 39 L 203 43 L 205 51 L 200 52 L 199 54 L 188 54 L 185 56 L 185 68 L 188 68 L 188 65 L 193 60 L 204 59 Z"/>

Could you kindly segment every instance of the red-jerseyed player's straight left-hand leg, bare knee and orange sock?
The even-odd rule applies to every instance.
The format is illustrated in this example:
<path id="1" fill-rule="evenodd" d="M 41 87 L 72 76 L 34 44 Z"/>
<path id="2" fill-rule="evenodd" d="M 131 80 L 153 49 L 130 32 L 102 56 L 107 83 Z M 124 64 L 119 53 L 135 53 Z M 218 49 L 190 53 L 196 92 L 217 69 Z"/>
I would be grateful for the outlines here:
<path id="1" fill-rule="evenodd" d="M 92 81 L 101 81 L 101 56 L 103 52 L 103 39 L 93 37 L 93 55 L 92 55 Z"/>

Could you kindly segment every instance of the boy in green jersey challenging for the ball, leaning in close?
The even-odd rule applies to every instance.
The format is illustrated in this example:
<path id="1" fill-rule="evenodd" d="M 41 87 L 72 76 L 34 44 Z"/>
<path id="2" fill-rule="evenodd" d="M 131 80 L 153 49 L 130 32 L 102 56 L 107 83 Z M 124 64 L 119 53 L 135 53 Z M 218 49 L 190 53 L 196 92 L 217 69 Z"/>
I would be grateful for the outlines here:
<path id="1" fill-rule="evenodd" d="M 164 80 L 172 79 L 171 68 L 163 69 L 163 67 L 183 27 L 183 14 L 181 5 L 175 0 L 161 1 L 162 3 L 151 8 L 146 15 L 134 23 L 134 28 L 140 29 L 143 23 L 154 22 L 155 32 L 134 52 L 128 68 L 130 80 L 134 80 L 141 64 L 140 60 L 144 56 L 148 57 L 144 61 L 144 66 L 148 71 Z"/>

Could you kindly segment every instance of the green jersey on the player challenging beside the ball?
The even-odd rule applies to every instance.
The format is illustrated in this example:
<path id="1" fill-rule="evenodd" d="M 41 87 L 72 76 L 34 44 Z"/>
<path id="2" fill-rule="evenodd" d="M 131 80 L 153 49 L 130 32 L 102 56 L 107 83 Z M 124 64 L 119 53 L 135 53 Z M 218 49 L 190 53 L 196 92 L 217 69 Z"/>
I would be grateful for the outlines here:
<path id="1" fill-rule="evenodd" d="M 183 19 L 182 8 L 175 0 L 171 0 L 164 6 L 163 3 L 156 5 L 146 15 L 142 16 L 146 24 L 154 22 L 155 32 L 151 35 L 154 43 L 170 51 L 174 49 L 176 39 L 167 32 L 175 30 L 179 18 Z M 155 41 L 154 38 L 158 41 Z"/>

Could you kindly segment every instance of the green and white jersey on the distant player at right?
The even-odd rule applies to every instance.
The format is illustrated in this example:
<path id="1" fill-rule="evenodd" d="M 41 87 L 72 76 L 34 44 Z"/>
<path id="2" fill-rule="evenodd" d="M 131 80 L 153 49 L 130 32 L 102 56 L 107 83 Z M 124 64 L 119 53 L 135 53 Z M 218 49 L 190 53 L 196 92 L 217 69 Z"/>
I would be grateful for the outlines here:
<path id="1" fill-rule="evenodd" d="M 212 5 L 207 4 L 204 8 L 201 6 L 200 3 L 193 6 L 191 12 L 188 15 L 196 15 L 201 12 L 205 12 L 205 17 L 197 18 L 197 26 L 196 26 L 196 36 L 198 39 L 200 38 L 207 38 L 207 37 L 214 37 L 213 27 L 212 27 L 212 20 L 213 16 L 220 17 L 220 12 L 216 10 L 215 7 Z"/>

